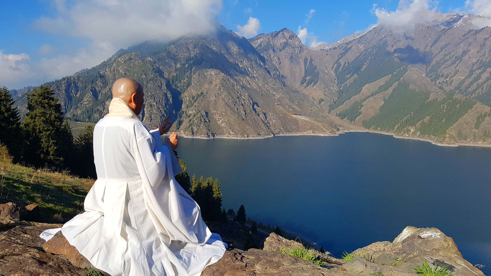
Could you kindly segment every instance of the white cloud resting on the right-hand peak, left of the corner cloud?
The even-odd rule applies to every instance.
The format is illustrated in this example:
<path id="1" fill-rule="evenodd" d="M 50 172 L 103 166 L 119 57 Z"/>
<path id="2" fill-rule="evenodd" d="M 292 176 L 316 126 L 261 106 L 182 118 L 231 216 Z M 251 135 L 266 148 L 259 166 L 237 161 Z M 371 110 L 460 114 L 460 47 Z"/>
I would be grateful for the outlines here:
<path id="1" fill-rule="evenodd" d="M 377 17 L 377 25 L 396 31 L 407 31 L 417 23 L 428 22 L 434 17 L 437 2 L 432 0 L 400 0 L 395 11 L 387 11 L 373 4 L 371 12 Z"/>

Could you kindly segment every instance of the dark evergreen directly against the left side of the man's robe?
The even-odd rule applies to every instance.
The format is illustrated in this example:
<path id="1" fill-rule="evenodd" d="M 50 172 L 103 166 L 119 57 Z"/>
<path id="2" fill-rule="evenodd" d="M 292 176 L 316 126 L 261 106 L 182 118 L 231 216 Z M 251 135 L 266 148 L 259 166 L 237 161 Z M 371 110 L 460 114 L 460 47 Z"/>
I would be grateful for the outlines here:
<path id="1" fill-rule="evenodd" d="M 78 155 L 77 159 L 72 163 L 72 171 L 82 177 L 96 178 L 96 170 L 94 165 L 94 126 L 88 125 L 78 135 L 75 140 L 75 147 Z"/>

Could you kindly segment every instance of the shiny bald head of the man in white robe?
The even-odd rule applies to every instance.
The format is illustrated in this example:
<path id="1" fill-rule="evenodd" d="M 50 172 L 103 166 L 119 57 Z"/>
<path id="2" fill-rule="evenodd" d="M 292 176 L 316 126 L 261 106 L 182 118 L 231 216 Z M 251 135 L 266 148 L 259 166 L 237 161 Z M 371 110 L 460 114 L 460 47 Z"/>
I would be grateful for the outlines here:
<path id="1" fill-rule="evenodd" d="M 143 87 L 134 79 L 118 79 L 113 84 L 114 98 L 123 100 L 138 115 L 143 108 Z"/>

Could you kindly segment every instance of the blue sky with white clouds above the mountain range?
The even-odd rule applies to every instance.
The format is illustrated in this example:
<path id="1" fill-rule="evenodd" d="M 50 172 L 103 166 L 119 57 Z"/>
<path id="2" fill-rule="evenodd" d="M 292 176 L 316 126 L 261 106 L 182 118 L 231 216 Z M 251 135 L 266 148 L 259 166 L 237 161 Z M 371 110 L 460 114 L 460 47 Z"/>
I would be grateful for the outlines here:
<path id="1" fill-rule="evenodd" d="M 216 21 L 245 37 L 286 27 L 315 46 L 364 31 L 380 14 L 410 5 L 437 12 L 491 9 L 491 0 L 0 1 L 0 85 L 9 88 L 73 74 L 146 39 L 205 33 Z"/>

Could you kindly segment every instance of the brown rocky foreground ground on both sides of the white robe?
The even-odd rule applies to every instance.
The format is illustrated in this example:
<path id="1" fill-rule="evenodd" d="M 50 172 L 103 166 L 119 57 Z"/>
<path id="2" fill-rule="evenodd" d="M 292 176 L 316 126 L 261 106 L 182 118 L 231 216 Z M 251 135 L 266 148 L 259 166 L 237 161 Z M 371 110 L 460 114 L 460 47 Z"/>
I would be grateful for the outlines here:
<path id="1" fill-rule="evenodd" d="M 0 276 L 85 276 L 96 273 L 61 232 L 48 242 L 39 237 L 43 230 L 61 224 L 20 221 L 19 218 L 36 216 L 37 213 L 30 213 L 32 211 L 28 209 L 36 210 L 36 207 L 0 204 Z M 263 240 L 262 249 L 245 251 L 230 247 L 217 263 L 206 267 L 202 275 L 415 276 L 416 266 L 427 260 L 430 264 L 436 262 L 440 267 L 447 266 L 453 276 L 484 276 L 462 258 L 453 239 L 436 228 L 408 226 L 392 242 L 375 242 L 354 251 L 354 258 L 349 262 L 336 259 L 328 252 L 313 250 L 315 259 L 325 262 L 321 266 L 281 253 L 283 248 L 299 246 L 303 247 L 296 241 L 270 233 Z"/>

